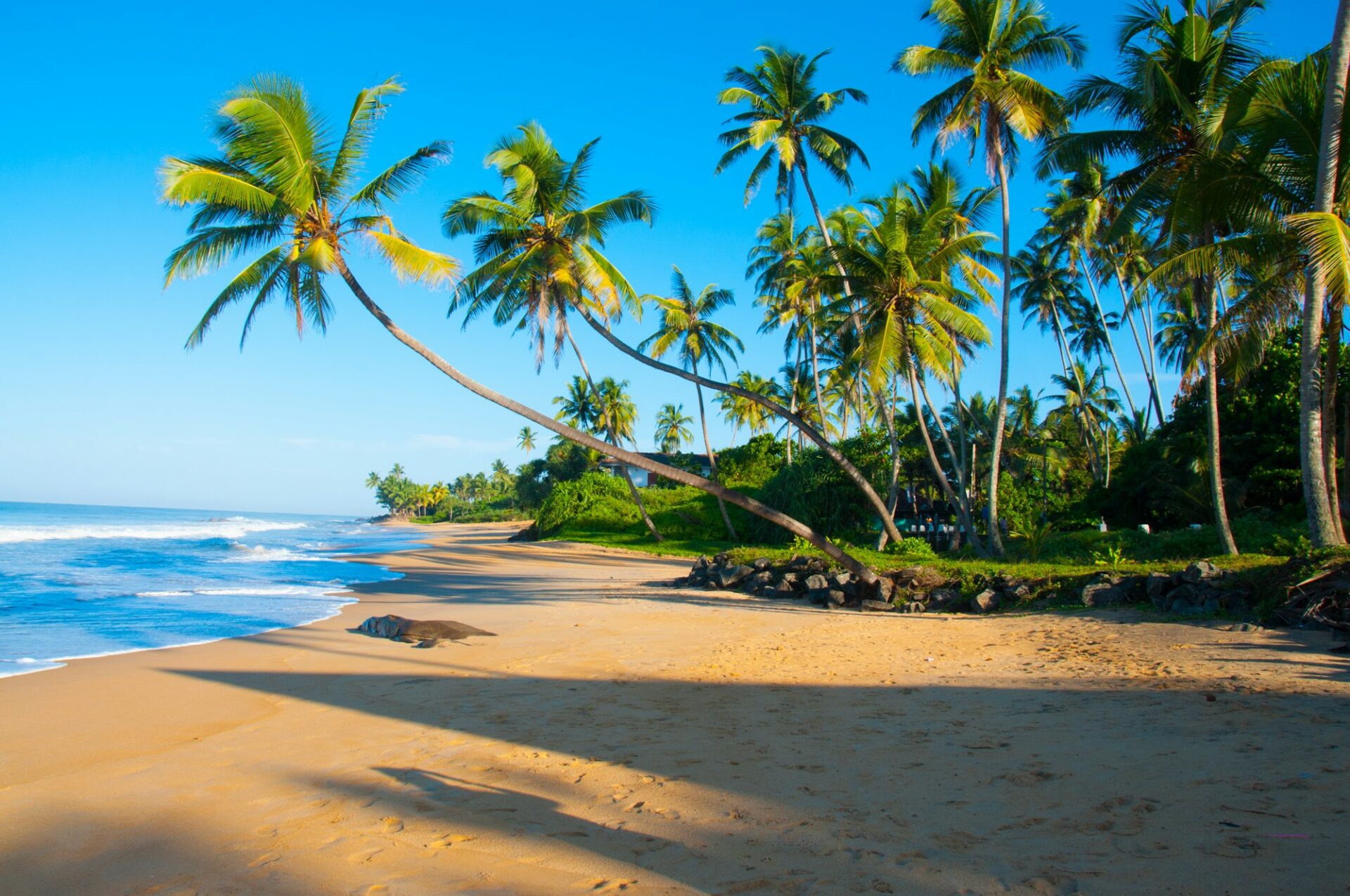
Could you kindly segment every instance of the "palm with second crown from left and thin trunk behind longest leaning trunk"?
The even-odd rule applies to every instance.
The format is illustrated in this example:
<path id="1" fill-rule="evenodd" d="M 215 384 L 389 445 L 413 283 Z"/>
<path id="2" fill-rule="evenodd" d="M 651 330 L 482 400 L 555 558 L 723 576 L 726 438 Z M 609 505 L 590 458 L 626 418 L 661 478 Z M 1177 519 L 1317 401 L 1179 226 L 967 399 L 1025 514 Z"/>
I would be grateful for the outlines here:
<path id="1" fill-rule="evenodd" d="M 605 320 L 618 320 L 625 305 L 640 310 L 633 287 L 602 248 L 606 232 L 616 224 L 651 224 L 656 215 L 655 202 L 640 190 L 586 204 L 594 146 L 591 140 L 568 162 L 544 128 L 524 124 L 514 136 L 498 140 L 487 155 L 487 165 L 502 178 L 502 198 L 474 193 L 451 202 L 441 216 L 447 236 L 478 237 L 478 267 L 464 277 L 451 310 L 466 308 L 466 327 L 487 309 L 498 325 L 516 321 L 517 329 L 531 335 L 536 368 L 543 366 L 549 333 L 555 360 L 563 345 L 571 344 L 591 391 L 595 383 L 567 324 L 567 312 L 589 308 Z M 608 425 L 598 430 L 606 432 L 610 441 L 618 440 Z M 660 541 L 628 466 L 620 463 L 618 468 L 643 524 Z"/>

